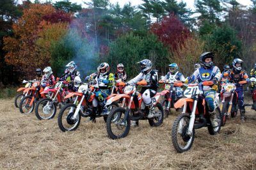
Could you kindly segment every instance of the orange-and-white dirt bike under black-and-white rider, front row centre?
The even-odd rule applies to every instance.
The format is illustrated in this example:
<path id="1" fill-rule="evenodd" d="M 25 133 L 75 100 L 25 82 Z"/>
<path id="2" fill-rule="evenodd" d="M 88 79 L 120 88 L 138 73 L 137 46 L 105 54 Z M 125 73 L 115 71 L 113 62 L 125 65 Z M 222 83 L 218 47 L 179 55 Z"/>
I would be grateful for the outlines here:
<path id="1" fill-rule="evenodd" d="M 119 86 L 124 85 L 124 82 L 120 82 L 119 84 Z M 163 123 L 164 111 L 162 105 L 159 103 L 160 93 L 152 97 L 153 107 L 150 111 L 154 113 L 154 117 L 148 118 L 147 115 L 150 111 L 145 106 L 141 93 L 136 91 L 138 85 L 145 86 L 147 82 L 140 81 L 136 84 L 125 86 L 124 94 L 115 94 L 108 98 L 107 104 L 123 98 L 122 107 L 116 107 L 108 115 L 106 128 L 108 136 L 111 139 L 120 139 L 127 136 L 131 127 L 131 120 L 148 120 L 148 123 L 152 127 L 158 127 Z"/>

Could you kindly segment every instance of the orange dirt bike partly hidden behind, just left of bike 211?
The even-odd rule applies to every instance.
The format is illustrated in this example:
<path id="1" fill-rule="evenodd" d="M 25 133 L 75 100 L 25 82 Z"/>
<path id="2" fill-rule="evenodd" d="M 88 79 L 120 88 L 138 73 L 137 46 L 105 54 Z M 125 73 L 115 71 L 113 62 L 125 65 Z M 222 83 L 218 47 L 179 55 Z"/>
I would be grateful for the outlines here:
<path id="1" fill-rule="evenodd" d="M 164 83 L 164 81 L 159 81 L 159 83 Z M 164 83 L 164 90 L 161 92 L 161 95 L 164 96 L 162 106 L 164 109 L 164 118 L 167 118 L 171 113 L 171 107 L 173 105 L 172 94 L 176 93 L 175 87 L 183 86 L 182 82 L 175 82 L 172 80 L 166 80 Z"/>

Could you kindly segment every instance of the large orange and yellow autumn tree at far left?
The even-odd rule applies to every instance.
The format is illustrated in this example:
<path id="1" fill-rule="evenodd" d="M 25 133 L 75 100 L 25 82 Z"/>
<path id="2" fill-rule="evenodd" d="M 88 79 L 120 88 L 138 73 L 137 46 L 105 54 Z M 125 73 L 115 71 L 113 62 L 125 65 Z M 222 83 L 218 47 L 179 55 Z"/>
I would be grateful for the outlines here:
<path id="1" fill-rule="evenodd" d="M 4 37 L 6 63 L 23 70 L 49 65 L 51 42 L 60 40 L 68 28 L 68 22 L 44 20 L 53 13 L 58 11 L 51 4 L 31 4 L 23 10 L 22 17 L 13 24 L 14 36 Z"/>

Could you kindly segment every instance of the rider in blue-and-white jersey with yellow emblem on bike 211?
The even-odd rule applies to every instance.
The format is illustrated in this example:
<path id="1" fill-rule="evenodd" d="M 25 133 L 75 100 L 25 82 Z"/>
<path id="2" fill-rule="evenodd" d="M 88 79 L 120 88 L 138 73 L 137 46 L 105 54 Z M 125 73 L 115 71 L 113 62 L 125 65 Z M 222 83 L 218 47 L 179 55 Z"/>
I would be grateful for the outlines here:
<path id="1" fill-rule="evenodd" d="M 198 80 L 199 83 L 204 81 L 214 82 L 213 86 L 204 86 L 202 90 L 204 91 L 205 101 L 207 102 L 209 108 L 212 127 L 217 127 L 218 121 L 215 113 L 216 104 L 214 104 L 214 100 L 216 90 L 218 89 L 218 86 L 216 84 L 218 83 L 218 81 L 220 81 L 221 73 L 220 69 L 217 66 L 213 65 L 213 58 L 213 52 L 204 52 L 203 54 L 201 54 L 200 63 L 202 66 L 199 69 L 197 69 L 193 73 L 193 75 L 188 77 L 188 82 L 191 83 L 196 80 Z"/>

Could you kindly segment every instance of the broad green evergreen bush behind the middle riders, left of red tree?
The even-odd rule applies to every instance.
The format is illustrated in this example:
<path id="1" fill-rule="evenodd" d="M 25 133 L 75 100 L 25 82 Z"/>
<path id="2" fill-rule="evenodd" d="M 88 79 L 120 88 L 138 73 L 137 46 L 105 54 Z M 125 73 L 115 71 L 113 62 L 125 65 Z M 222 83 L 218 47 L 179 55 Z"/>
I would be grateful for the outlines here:
<path id="1" fill-rule="evenodd" d="M 129 33 L 110 43 L 106 61 L 114 69 L 118 63 L 123 63 L 127 75 L 134 77 L 140 72 L 135 63 L 142 59 L 150 59 L 154 68 L 166 72 L 167 56 L 168 49 L 157 40 L 157 36 L 148 33 L 141 37 Z"/>

